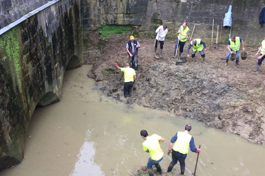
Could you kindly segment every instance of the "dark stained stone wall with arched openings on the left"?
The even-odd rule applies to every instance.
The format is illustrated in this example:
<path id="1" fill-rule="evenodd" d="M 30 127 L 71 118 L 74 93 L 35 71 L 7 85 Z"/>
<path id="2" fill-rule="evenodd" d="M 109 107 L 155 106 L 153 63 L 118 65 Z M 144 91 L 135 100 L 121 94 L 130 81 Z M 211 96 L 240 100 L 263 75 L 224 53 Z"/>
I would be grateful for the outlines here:
<path id="1" fill-rule="evenodd" d="M 0 171 L 23 159 L 35 107 L 59 101 L 65 70 L 81 66 L 80 11 L 61 0 L 0 35 Z"/>

